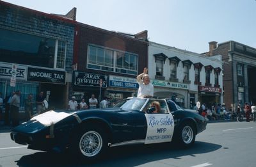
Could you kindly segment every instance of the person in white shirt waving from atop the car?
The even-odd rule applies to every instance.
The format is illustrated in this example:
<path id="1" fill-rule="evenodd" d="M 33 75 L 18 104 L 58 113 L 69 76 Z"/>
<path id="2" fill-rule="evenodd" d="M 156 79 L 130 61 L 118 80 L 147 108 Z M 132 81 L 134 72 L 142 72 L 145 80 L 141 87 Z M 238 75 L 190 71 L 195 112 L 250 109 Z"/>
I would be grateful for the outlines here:
<path id="1" fill-rule="evenodd" d="M 150 83 L 148 76 L 148 69 L 144 68 L 143 73 L 137 76 L 137 82 L 139 84 L 139 90 L 137 97 L 153 97 L 154 96 L 154 86 Z"/>

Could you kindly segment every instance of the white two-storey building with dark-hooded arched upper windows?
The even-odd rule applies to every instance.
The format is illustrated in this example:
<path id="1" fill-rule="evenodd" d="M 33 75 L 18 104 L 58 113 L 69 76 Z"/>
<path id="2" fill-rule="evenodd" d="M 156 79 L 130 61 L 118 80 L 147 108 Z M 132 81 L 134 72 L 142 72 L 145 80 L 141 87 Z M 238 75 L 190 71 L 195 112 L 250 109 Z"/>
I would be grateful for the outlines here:
<path id="1" fill-rule="evenodd" d="M 198 101 L 209 107 L 221 104 L 221 69 L 221 55 L 209 58 L 149 42 L 148 74 L 154 85 L 155 97 L 175 100 L 186 108 L 193 108 Z"/>

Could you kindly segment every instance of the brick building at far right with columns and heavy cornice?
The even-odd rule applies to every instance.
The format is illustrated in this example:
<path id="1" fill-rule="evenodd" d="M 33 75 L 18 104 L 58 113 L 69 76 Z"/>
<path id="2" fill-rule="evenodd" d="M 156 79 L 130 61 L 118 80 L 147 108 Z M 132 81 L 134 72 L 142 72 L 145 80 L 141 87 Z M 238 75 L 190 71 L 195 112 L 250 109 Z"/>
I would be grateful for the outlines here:
<path id="1" fill-rule="evenodd" d="M 236 110 L 238 104 L 256 103 L 256 49 L 236 41 L 218 44 L 209 42 L 209 52 L 204 54 L 223 55 L 223 90 L 227 108 Z"/>

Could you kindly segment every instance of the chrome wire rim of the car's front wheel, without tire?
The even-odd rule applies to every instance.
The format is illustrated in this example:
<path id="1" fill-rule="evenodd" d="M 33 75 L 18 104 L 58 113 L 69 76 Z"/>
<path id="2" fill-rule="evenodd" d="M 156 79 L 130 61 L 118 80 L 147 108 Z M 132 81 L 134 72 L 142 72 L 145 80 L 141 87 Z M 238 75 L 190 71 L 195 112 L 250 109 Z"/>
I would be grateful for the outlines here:
<path id="1" fill-rule="evenodd" d="M 79 148 L 83 155 L 93 157 L 99 154 L 102 148 L 102 137 L 98 132 L 88 131 L 81 137 Z"/>

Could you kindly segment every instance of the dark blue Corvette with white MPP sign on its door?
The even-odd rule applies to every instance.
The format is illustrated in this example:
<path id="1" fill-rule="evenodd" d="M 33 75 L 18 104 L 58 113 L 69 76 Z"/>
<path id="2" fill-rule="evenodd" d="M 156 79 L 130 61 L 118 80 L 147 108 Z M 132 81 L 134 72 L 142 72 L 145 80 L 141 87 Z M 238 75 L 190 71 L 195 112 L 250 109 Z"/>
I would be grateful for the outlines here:
<path id="1" fill-rule="evenodd" d="M 153 113 L 153 101 L 159 102 L 159 113 Z M 106 109 L 47 111 L 15 127 L 10 135 L 30 149 L 70 150 L 90 161 L 120 145 L 177 141 L 190 147 L 206 125 L 206 118 L 170 99 L 128 98 Z"/>

